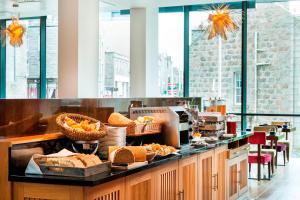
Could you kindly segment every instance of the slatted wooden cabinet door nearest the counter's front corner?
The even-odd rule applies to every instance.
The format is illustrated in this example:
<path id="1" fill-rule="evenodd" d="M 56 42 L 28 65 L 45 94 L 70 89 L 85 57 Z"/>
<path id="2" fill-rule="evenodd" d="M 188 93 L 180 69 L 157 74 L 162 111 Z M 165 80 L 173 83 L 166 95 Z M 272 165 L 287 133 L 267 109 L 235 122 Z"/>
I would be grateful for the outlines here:
<path id="1" fill-rule="evenodd" d="M 95 187 L 85 187 L 85 200 L 125 200 L 125 178 Z"/>

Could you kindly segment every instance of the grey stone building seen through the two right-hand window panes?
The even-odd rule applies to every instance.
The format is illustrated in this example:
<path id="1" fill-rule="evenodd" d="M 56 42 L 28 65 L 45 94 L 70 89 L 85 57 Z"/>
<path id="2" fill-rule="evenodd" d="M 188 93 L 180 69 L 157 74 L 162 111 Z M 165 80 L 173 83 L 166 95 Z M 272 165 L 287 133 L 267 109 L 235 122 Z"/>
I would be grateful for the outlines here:
<path id="1" fill-rule="evenodd" d="M 300 18 L 289 12 L 288 5 L 259 3 L 248 10 L 248 113 L 300 113 Z M 235 79 L 240 73 L 241 30 L 229 34 L 227 41 L 208 40 L 207 32 L 192 30 L 191 96 L 224 98 L 228 112 L 238 113 Z M 291 121 L 300 128 L 296 117 L 247 118 L 249 127 L 275 120 Z M 300 137 L 295 141 L 300 144 Z"/>

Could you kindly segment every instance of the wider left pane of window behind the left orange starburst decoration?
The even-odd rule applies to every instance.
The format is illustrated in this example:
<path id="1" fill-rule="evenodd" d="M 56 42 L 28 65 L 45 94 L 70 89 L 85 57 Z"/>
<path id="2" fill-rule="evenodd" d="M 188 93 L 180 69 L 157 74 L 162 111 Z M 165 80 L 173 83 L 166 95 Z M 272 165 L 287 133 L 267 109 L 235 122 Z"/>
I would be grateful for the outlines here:
<path id="1" fill-rule="evenodd" d="M 6 22 L 8 26 L 11 20 Z M 23 45 L 6 41 L 6 98 L 37 98 L 40 87 L 40 20 L 20 20 L 26 27 Z"/>

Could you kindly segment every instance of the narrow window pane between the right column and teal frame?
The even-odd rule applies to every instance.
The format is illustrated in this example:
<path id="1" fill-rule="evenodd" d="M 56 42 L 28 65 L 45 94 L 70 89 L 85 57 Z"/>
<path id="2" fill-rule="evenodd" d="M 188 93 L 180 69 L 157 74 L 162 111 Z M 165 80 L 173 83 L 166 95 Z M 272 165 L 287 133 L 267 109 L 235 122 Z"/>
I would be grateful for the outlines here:
<path id="1" fill-rule="evenodd" d="M 183 96 L 183 13 L 159 14 L 159 86 L 161 96 Z"/>

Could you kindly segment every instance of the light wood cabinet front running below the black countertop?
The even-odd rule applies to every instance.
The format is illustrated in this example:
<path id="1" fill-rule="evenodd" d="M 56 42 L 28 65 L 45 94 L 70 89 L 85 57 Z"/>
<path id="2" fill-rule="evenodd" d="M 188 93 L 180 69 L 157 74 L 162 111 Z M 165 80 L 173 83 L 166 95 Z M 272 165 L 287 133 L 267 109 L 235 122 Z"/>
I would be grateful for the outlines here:
<path id="1" fill-rule="evenodd" d="M 13 182 L 12 199 L 223 200 L 225 154 L 223 146 L 94 187 Z"/>

